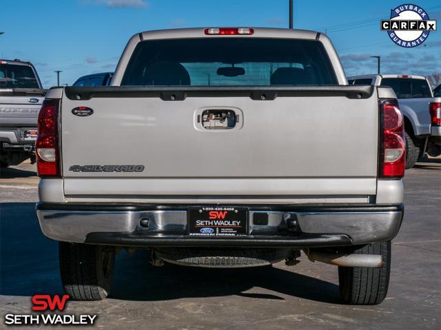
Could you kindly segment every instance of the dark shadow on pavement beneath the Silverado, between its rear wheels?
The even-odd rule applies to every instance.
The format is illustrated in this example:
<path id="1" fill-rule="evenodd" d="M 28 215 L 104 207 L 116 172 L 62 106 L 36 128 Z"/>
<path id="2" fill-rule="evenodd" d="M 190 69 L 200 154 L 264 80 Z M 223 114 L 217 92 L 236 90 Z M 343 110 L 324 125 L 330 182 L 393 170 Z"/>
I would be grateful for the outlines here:
<path id="1" fill-rule="evenodd" d="M 139 251 L 136 254 L 133 256 L 138 263 L 136 274 L 130 270 L 129 264 L 133 265 L 134 261 L 129 256 L 119 259 L 110 298 L 171 300 L 235 295 L 284 300 L 283 296 L 287 295 L 323 303 L 342 303 L 337 285 L 296 274 L 293 272 L 296 266 L 287 270 L 271 266 L 209 269 L 168 263 L 163 267 L 153 267 L 149 263 L 150 252 Z M 261 293 L 262 289 L 271 292 Z"/>

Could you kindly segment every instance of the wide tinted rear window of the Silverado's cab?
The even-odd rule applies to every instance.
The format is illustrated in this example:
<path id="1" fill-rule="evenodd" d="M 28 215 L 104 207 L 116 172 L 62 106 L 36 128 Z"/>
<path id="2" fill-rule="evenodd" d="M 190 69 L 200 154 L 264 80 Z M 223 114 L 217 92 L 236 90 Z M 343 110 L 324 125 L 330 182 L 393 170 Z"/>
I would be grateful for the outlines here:
<path id="1" fill-rule="evenodd" d="M 139 43 L 121 85 L 337 85 L 319 41 L 298 39 L 167 39 Z"/>

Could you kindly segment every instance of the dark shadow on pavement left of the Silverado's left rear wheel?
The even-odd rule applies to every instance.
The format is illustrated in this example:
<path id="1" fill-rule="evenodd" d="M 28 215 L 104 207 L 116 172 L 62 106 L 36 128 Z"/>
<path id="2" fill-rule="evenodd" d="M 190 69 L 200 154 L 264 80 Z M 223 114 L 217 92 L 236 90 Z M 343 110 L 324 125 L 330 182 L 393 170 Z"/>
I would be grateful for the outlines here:
<path id="1" fill-rule="evenodd" d="M 0 203 L 0 294 L 59 294 L 58 244 L 46 239 L 35 203 Z"/>

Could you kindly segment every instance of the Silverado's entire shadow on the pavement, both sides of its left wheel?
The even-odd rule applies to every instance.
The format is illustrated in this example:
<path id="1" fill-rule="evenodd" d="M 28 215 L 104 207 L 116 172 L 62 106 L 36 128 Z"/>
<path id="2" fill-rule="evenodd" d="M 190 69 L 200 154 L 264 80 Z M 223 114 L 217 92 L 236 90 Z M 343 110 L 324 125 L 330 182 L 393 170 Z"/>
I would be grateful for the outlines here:
<path id="1" fill-rule="evenodd" d="M 236 295 L 283 300 L 289 295 L 341 303 L 337 285 L 291 272 L 295 267 L 153 267 L 149 260 L 150 252 L 146 250 L 138 250 L 132 256 L 122 252 L 117 257 L 109 298 L 157 301 Z M 262 293 L 260 288 L 271 292 Z M 0 203 L 0 294 L 63 294 L 58 243 L 41 234 L 34 203 Z"/>

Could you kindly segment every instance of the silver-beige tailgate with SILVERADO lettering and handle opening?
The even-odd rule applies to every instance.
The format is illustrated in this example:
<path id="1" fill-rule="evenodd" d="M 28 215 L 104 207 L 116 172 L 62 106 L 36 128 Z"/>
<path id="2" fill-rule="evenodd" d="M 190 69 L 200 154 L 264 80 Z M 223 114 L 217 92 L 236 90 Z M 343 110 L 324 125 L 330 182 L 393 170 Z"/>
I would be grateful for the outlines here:
<path id="1" fill-rule="evenodd" d="M 265 100 L 254 97 L 263 92 L 239 89 L 178 93 L 167 100 L 173 93 L 123 87 L 96 89 L 102 92 L 76 100 L 78 90 L 68 89 L 70 98 L 62 100 L 65 195 L 367 198 L 376 193 L 373 87 L 297 87 L 266 91 Z M 93 113 L 74 115 L 76 107 Z M 233 111 L 236 125 L 205 129 L 204 111 L 217 110 Z M 144 167 L 121 167 L 130 165 Z"/>

